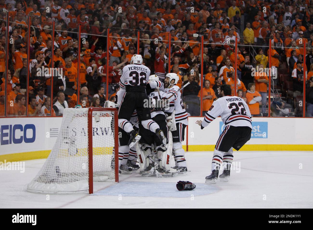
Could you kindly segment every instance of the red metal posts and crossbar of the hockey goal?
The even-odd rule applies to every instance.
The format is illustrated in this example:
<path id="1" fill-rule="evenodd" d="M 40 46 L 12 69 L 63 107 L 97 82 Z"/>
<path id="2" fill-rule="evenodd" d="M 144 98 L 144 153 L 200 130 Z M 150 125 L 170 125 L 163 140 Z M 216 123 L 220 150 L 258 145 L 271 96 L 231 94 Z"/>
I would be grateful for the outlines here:
<path id="1" fill-rule="evenodd" d="M 118 114 L 116 108 L 90 107 L 88 109 L 88 159 L 89 159 L 89 194 L 94 192 L 93 184 L 93 162 L 92 162 L 92 112 L 93 111 L 110 111 L 114 112 L 114 152 L 115 152 L 115 182 L 118 178 Z"/>

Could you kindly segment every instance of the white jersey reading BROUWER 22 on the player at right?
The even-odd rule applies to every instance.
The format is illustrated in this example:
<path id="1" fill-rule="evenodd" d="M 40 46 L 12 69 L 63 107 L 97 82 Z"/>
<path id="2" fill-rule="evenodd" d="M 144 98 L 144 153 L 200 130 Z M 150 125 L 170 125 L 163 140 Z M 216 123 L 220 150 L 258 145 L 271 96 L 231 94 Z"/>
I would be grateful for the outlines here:
<path id="1" fill-rule="evenodd" d="M 201 125 L 207 126 L 218 116 L 221 116 L 225 125 L 248 126 L 252 129 L 249 107 L 240 97 L 224 96 L 215 100 Z"/>

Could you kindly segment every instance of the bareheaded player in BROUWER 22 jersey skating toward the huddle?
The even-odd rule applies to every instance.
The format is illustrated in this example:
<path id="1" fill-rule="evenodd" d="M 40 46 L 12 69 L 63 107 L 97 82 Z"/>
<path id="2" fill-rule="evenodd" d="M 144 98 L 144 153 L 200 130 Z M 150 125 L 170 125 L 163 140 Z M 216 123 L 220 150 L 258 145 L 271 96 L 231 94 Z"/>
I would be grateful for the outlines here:
<path id="1" fill-rule="evenodd" d="M 225 129 L 216 142 L 211 175 L 205 177 L 206 183 L 215 184 L 218 179 L 218 171 L 221 163 L 226 164 L 226 168 L 219 176 L 221 181 L 228 181 L 230 177 L 230 166 L 233 161 L 233 148 L 237 151 L 250 140 L 251 137 L 251 113 L 248 105 L 240 97 L 231 96 L 230 85 L 221 86 L 221 96 L 215 100 L 205 114 L 203 121 L 197 120 L 196 123 L 201 129 L 210 124 L 216 117 L 221 116 L 225 124 Z"/>

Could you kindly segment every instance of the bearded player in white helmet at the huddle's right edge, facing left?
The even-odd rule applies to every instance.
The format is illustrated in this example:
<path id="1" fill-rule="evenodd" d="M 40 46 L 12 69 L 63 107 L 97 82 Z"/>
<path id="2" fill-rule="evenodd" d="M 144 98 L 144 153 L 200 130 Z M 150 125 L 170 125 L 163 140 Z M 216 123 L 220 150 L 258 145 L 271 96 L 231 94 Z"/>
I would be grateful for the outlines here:
<path id="1" fill-rule="evenodd" d="M 174 95 L 169 99 L 170 110 L 167 112 L 167 114 L 170 116 L 167 117 L 167 122 L 172 123 L 169 129 L 172 130 L 173 138 L 173 152 L 175 158 L 175 166 L 173 168 L 177 170 L 178 174 L 183 174 L 187 172 L 185 151 L 182 148 L 182 141 L 185 139 L 185 128 L 188 125 L 188 114 L 182 103 L 182 94 L 179 90 L 179 87 L 176 85 L 178 80 L 179 77 L 177 74 L 168 73 L 165 76 L 164 85 L 162 82 L 156 81 L 151 82 L 149 87 L 160 87 L 160 89 L 164 90 L 166 93 L 164 95 L 165 98 L 169 98 L 171 95 Z M 172 113 L 173 110 L 175 110 L 174 113 Z"/>

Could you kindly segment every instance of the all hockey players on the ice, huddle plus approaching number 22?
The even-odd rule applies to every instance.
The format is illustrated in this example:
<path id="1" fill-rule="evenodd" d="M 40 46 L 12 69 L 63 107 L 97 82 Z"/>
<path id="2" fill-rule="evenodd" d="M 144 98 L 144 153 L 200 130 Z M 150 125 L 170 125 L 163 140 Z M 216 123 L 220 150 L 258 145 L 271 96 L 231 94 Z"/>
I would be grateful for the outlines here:
<path id="1" fill-rule="evenodd" d="M 138 54 L 123 68 L 115 103 L 105 103 L 105 107 L 118 107 L 120 173 L 138 170 L 142 176 L 157 177 L 187 173 L 182 141 L 188 115 L 182 102 L 184 87 L 180 89 L 176 85 L 178 80 L 177 74 L 169 73 L 164 83 L 159 81 L 157 75 L 150 75 L 150 69 L 142 65 Z M 216 183 L 221 165 L 220 180 L 228 181 L 233 148 L 238 151 L 244 146 L 252 130 L 251 114 L 244 100 L 231 96 L 227 84 L 221 86 L 220 95 L 203 121 L 196 122 L 203 129 L 221 116 L 225 124 L 214 149 L 211 175 L 205 178 L 209 183 Z M 171 167 L 172 155 L 174 167 Z"/>

